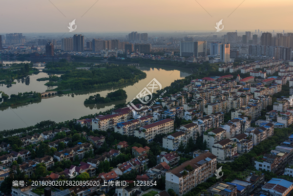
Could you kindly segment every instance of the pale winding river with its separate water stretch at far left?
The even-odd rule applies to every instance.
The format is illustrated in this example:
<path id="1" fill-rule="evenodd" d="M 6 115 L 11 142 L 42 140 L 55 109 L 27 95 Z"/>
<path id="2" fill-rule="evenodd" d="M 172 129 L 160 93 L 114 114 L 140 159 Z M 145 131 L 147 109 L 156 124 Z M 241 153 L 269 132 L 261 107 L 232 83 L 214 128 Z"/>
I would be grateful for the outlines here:
<path id="1" fill-rule="evenodd" d="M 39 65 L 37 68 L 42 70 L 43 66 Z M 131 101 L 153 78 L 156 78 L 162 84 L 162 87 L 167 87 L 174 82 L 174 80 L 182 79 L 191 74 L 188 70 L 170 70 L 173 69 L 173 67 L 164 66 L 160 66 L 160 68 L 158 66 L 156 66 L 156 68 L 154 68 L 154 66 L 140 66 L 138 69 L 146 72 L 146 78 L 132 86 L 120 86 L 91 90 L 83 93 L 55 95 L 50 98 L 42 99 L 42 101 L 38 103 L 1 107 L 0 130 L 27 127 L 35 125 L 43 120 L 62 122 L 80 118 L 88 114 L 99 113 L 100 111 L 113 108 L 116 104 Z M 0 91 L 4 91 L 8 95 L 26 91 L 37 91 L 42 93 L 48 89 L 44 86 L 46 81 L 37 81 L 37 79 L 43 77 L 48 77 L 48 74 L 40 72 L 39 74 L 31 75 L 29 79 L 26 79 L 23 83 L 22 81 L 15 80 L 17 84 L 12 85 L 12 87 L 0 85 Z M 90 95 L 100 93 L 101 96 L 105 97 L 107 93 L 121 88 L 127 93 L 126 101 L 84 105 L 84 100 Z"/>

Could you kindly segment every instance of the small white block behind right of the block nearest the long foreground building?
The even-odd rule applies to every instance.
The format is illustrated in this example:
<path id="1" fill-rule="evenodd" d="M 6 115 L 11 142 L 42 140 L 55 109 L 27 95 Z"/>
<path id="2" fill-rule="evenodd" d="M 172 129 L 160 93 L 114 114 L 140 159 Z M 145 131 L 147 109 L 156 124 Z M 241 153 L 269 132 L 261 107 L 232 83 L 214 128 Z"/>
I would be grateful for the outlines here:
<path id="1" fill-rule="evenodd" d="M 240 133 L 231 137 L 231 140 L 237 144 L 237 153 L 246 153 L 252 150 L 253 142 L 251 136 L 248 136 L 245 133 Z"/>

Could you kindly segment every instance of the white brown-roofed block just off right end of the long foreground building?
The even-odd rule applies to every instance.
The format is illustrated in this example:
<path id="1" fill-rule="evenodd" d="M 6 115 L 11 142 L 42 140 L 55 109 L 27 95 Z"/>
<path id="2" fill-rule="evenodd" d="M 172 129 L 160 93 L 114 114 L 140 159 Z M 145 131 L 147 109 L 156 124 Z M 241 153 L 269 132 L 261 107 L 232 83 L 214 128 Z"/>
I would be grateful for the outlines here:
<path id="1" fill-rule="evenodd" d="M 211 148 L 211 153 L 217 156 L 217 160 L 234 159 L 237 155 L 237 146 L 230 139 L 222 139 Z"/>

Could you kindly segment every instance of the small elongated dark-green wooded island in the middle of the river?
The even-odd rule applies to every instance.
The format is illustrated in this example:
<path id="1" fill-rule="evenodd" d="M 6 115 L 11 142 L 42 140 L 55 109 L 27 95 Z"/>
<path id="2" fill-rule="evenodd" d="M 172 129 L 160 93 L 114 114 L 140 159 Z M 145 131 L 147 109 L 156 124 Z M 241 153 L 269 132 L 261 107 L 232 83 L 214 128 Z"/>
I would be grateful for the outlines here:
<path id="1" fill-rule="evenodd" d="M 88 99 L 85 99 L 84 104 L 105 104 L 125 99 L 127 99 L 126 91 L 123 89 L 119 89 L 114 92 L 108 93 L 106 97 L 101 97 L 100 94 L 89 96 Z"/>

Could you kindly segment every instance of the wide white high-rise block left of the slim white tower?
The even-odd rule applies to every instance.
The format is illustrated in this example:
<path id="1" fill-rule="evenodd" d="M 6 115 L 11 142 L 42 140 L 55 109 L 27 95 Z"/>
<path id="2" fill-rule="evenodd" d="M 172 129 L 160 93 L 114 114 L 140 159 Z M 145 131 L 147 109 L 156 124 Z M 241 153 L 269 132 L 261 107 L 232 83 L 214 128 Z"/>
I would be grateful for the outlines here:
<path id="1" fill-rule="evenodd" d="M 180 56 L 205 57 L 207 55 L 207 41 L 180 42 Z"/>

